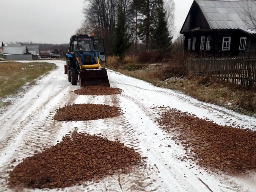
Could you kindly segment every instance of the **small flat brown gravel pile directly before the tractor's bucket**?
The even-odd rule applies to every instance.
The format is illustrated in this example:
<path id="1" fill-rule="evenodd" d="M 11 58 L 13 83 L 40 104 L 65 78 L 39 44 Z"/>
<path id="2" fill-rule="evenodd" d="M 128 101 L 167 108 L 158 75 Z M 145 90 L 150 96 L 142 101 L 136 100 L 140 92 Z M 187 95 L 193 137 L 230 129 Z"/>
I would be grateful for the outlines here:
<path id="1" fill-rule="evenodd" d="M 121 92 L 122 89 L 114 87 L 83 87 L 74 91 L 78 95 L 115 95 Z"/>

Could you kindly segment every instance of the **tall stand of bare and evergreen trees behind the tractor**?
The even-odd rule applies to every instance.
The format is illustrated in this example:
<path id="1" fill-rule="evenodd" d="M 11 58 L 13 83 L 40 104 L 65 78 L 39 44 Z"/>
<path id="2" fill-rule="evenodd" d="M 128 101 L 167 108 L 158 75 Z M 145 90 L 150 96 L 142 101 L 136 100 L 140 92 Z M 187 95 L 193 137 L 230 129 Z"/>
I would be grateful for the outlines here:
<path id="1" fill-rule="evenodd" d="M 85 21 L 76 33 L 94 32 L 104 38 L 107 55 L 122 60 L 125 53 L 171 49 L 173 0 L 86 0 Z"/>

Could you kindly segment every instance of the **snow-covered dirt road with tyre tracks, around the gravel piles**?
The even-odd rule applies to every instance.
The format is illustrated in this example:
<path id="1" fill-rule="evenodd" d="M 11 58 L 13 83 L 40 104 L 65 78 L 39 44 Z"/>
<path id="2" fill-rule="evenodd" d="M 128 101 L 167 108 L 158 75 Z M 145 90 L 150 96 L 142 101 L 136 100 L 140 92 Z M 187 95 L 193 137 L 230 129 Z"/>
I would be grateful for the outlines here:
<path id="1" fill-rule="evenodd" d="M 68 82 L 64 75 L 65 61 L 50 62 L 54 62 L 57 69 L 38 80 L 22 97 L 16 98 L 13 105 L 0 116 L 0 192 L 13 191 L 7 186 L 8 171 L 13 169 L 11 165 L 15 166 L 22 158 L 32 156 L 35 150 L 41 151 L 42 148 L 55 145 L 57 140 L 61 140 L 74 127 L 78 127 L 78 132 L 102 133 L 109 140 L 118 138 L 148 159 L 146 166 L 134 169 L 129 174 L 109 176 L 100 183 L 87 182 L 86 186 L 68 187 L 65 191 L 256 191 L 255 172 L 243 176 L 214 175 L 200 169 L 194 162 L 180 161 L 177 157 L 182 157 L 185 151 L 171 139 L 171 133 L 166 133 L 156 123 L 159 109 L 154 107 L 170 106 L 193 113 L 199 118 L 207 117 L 220 125 L 243 126 L 252 130 L 256 128 L 256 119 L 202 103 L 176 91 L 152 86 L 112 70 L 108 70 L 110 86 L 122 89 L 120 95 L 75 95 L 72 91 L 80 87 Z M 124 114 L 85 122 L 53 120 L 57 108 L 72 103 L 117 106 Z M 11 163 L 14 158 L 16 162 Z"/>

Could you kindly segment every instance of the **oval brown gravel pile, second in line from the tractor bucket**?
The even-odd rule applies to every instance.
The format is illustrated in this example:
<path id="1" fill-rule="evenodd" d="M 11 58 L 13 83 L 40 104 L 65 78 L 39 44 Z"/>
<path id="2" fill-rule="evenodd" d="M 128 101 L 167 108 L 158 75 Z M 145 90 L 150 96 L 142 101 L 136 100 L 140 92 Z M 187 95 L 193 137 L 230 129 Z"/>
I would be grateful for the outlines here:
<path id="1" fill-rule="evenodd" d="M 87 121 L 121 115 L 121 109 L 101 104 L 72 104 L 57 109 L 54 118 L 58 121 Z"/>

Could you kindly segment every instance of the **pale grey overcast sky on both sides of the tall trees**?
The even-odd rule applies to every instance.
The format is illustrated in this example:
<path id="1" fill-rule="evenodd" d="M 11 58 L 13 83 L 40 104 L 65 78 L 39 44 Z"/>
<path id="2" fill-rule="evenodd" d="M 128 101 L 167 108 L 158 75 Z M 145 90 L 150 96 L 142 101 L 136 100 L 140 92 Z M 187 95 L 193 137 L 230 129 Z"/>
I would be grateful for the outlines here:
<path id="1" fill-rule="evenodd" d="M 174 39 L 193 0 L 174 0 Z M 84 0 L 0 0 L 0 41 L 68 43 L 81 27 Z"/>

